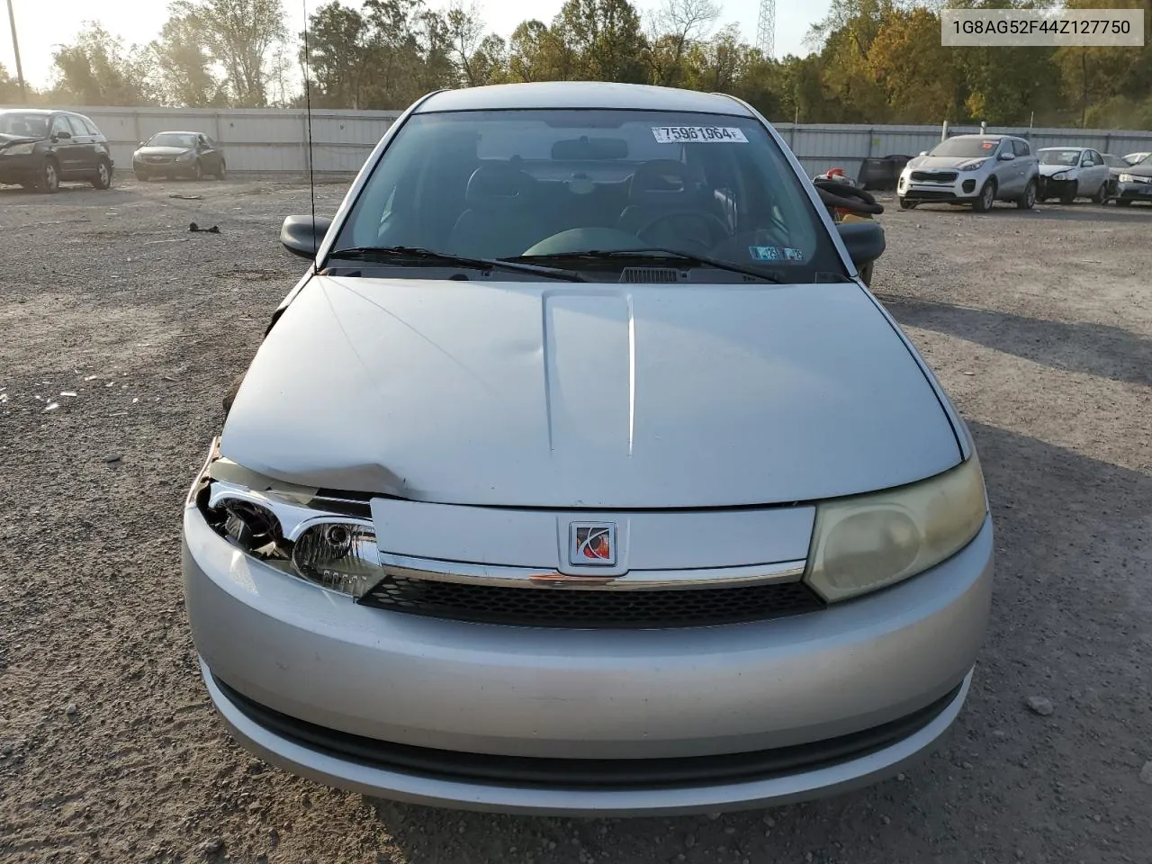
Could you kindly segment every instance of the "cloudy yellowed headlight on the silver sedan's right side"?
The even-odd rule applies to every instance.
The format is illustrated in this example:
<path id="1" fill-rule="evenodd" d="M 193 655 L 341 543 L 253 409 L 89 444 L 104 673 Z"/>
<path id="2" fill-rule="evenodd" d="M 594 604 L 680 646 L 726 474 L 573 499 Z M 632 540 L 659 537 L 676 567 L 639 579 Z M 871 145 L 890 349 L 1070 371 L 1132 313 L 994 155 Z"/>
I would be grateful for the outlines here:
<path id="1" fill-rule="evenodd" d="M 804 578 L 829 602 L 876 591 L 954 555 L 986 515 L 976 454 L 920 483 L 824 501 Z"/>

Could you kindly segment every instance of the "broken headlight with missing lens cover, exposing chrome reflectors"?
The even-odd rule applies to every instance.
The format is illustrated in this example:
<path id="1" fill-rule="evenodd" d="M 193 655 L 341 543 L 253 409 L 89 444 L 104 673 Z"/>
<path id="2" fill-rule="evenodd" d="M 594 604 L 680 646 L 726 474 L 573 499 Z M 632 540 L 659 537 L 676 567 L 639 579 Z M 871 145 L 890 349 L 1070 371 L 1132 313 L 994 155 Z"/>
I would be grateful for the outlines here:
<path id="1" fill-rule="evenodd" d="M 218 460 L 194 486 L 189 506 L 244 554 L 328 591 L 363 597 L 386 575 L 372 521 L 325 510 L 314 494 Z"/>

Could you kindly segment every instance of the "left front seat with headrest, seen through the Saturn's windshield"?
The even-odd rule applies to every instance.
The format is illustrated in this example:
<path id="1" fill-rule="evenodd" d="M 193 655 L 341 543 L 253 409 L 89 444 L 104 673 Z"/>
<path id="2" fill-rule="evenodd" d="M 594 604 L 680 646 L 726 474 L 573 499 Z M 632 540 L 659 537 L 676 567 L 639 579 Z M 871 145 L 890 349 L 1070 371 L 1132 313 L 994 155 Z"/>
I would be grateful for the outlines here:
<path id="1" fill-rule="evenodd" d="M 536 180 L 509 162 L 487 162 L 472 172 L 465 206 L 452 229 L 455 255 L 506 258 L 550 233 L 540 225 Z"/>

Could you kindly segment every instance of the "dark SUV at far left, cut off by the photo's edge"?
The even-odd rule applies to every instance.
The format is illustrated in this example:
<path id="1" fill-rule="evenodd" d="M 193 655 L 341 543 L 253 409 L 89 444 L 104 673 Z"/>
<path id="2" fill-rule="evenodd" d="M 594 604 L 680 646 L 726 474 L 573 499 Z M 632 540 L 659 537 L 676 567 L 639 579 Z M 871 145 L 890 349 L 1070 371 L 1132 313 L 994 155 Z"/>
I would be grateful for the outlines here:
<path id="1" fill-rule="evenodd" d="M 0 183 L 55 192 L 63 181 L 112 185 L 115 162 L 89 118 L 70 111 L 0 111 Z"/>

